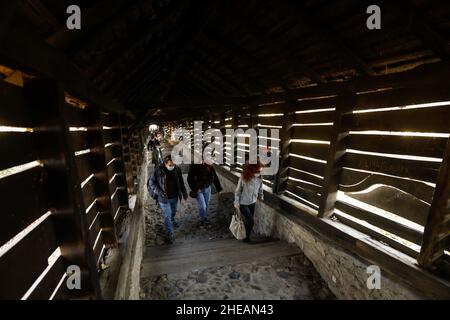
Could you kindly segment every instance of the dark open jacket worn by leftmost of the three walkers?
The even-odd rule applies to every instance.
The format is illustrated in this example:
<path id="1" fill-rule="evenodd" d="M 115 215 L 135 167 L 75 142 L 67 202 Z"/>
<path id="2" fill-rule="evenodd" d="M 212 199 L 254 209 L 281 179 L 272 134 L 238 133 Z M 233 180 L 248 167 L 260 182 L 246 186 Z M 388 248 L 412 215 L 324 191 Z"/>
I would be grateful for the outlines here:
<path id="1" fill-rule="evenodd" d="M 186 187 L 183 181 L 183 175 L 179 167 L 175 166 L 175 176 L 177 178 L 178 185 L 178 198 L 181 200 L 182 197 L 187 198 Z M 156 167 L 153 174 L 147 181 L 147 190 L 150 193 L 150 196 L 158 200 L 158 202 L 166 203 L 167 202 L 167 183 L 166 183 L 166 174 L 164 172 L 163 166 Z"/>

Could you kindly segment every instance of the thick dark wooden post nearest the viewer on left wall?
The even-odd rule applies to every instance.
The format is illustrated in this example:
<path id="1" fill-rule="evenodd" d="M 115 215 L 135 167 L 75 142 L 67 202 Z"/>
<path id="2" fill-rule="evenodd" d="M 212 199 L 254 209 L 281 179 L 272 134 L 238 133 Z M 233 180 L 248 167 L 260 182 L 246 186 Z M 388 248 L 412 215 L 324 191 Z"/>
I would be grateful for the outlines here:
<path id="1" fill-rule="evenodd" d="M 49 201 L 61 255 L 66 267 L 76 265 L 82 273 L 81 289 L 72 290 L 72 297 L 101 299 L 74 148 L 64 118 L 64 92 L 51 80 L 33 80 L 24 90 L 35 119 L 39 158 L 48 174 Z"/>

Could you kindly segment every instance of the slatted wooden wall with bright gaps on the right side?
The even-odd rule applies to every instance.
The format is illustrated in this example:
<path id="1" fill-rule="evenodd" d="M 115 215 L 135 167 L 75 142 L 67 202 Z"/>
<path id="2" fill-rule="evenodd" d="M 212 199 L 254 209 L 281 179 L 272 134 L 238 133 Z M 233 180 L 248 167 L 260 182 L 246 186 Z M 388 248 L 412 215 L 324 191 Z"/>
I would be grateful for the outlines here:
<path id="1" fill-rule="evenodd" d="M 280 129 L 279 172 L 265 181 L 275 193 L 418 258 L 424 267 L 448 270 L 450 93 L 438 86 L 311 90 L 298 99 L 214 114 L 212 126 L 223 134 L 227 128 Z M 248 146 L 237 148 L 248 160 Z M 230 157 L 225 165 L 241 171 L 242 159 L 233 167 Z"/>

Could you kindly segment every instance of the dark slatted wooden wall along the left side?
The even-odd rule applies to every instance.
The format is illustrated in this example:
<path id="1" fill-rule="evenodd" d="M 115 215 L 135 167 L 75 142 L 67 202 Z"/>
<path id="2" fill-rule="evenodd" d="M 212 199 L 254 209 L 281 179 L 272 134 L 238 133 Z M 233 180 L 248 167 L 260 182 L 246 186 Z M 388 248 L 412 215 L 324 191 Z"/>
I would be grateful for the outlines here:
<path id="1" fill-rule="evenodd" d="M 52 80 L 0 81 L 0 299 L 102 296 L 102 257 L 128 208 L 127 128 L 65 97 Z M 80 290 L 67 289 L 71 265 Z"/>

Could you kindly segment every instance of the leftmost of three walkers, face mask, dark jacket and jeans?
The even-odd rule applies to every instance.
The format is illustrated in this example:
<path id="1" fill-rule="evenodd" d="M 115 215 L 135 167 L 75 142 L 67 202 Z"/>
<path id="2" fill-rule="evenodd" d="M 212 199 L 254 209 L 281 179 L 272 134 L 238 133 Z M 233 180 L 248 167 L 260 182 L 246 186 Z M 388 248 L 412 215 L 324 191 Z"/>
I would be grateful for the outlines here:
<path id="1" fill-rule="evenodd" d="M 166 242 L 173 243 L 173 228 L 178 227 L 175 221 L 178 200 L 187 199 L 187 191 L 183 175 L 171 156 L 164 158 L 164 163 L 158 166 L 147 183 L 148 191 L 156 199 L 164 214 Z"/>

